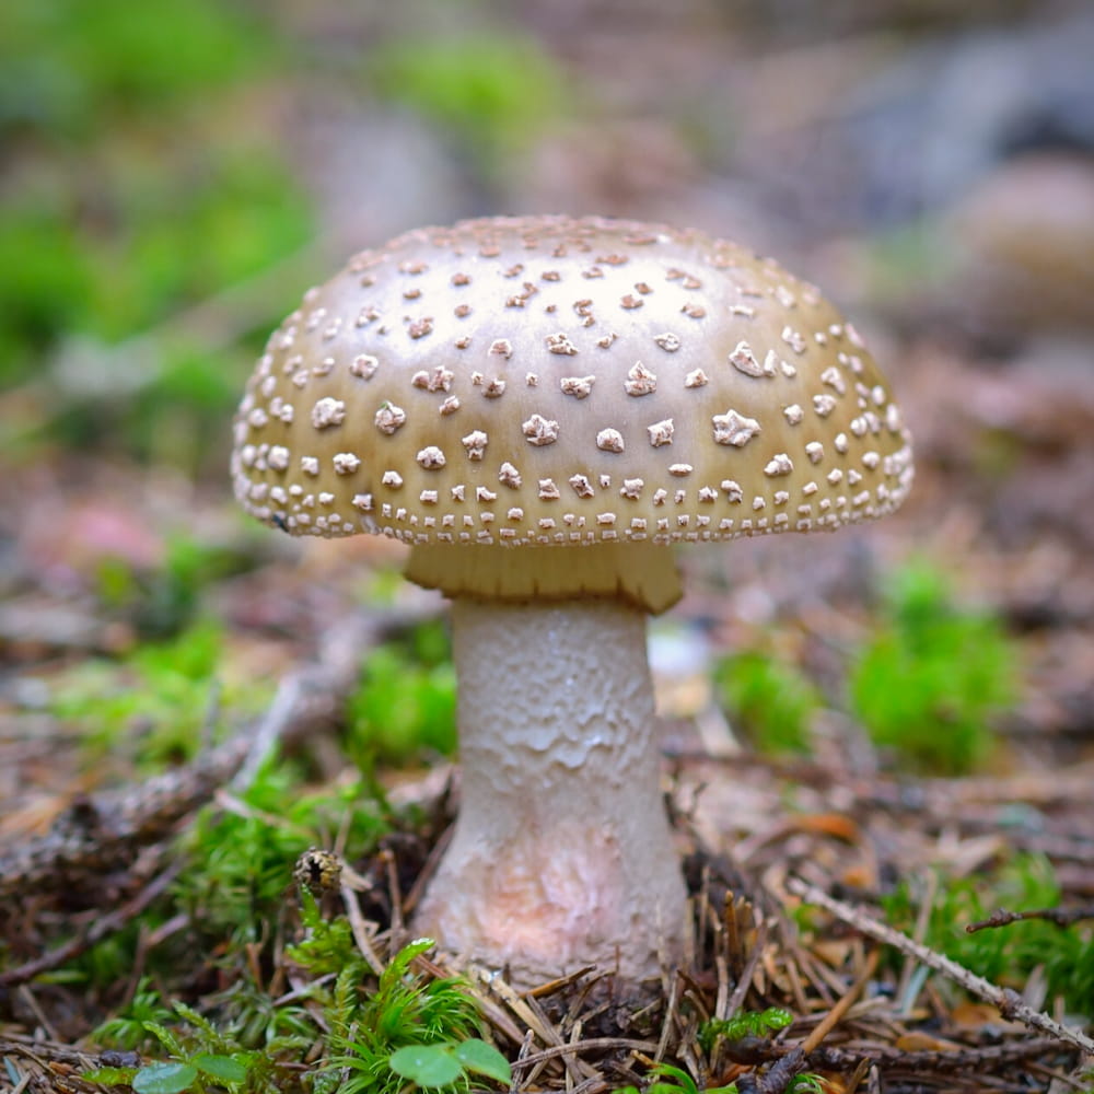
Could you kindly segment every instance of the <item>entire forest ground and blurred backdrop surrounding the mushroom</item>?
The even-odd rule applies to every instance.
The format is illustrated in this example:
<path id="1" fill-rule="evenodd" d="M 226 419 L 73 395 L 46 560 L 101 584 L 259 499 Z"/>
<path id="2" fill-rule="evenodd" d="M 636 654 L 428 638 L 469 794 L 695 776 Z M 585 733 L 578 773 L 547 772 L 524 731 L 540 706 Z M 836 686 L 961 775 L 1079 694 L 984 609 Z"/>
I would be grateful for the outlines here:
<path id="1" fill-rule="evenodd" d="M 1089 4 L 12 7 L 0 1091 L 1090 1094 Z M 915 438 L 876 526 L 680 551 L 650 650 L 691 926 L 641 1004 L 414 944 L 445 605 L 228 481 L 274 310 L 501 210 L 785 258 Z"/>

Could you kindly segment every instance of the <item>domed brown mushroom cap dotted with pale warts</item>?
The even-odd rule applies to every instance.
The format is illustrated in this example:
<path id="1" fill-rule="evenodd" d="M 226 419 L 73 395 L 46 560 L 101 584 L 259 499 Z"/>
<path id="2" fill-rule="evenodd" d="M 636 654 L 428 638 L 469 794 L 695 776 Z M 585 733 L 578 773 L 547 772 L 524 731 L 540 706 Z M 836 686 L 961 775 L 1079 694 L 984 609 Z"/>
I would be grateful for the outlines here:
<path id="1" fill-rule="evenodd" d="M 235 493 L 296 535 L 731 539 L 896 509 L 900 411 L 811 284 L 699 232 L 513 217 L 363 251 L 270 337 Z"/>

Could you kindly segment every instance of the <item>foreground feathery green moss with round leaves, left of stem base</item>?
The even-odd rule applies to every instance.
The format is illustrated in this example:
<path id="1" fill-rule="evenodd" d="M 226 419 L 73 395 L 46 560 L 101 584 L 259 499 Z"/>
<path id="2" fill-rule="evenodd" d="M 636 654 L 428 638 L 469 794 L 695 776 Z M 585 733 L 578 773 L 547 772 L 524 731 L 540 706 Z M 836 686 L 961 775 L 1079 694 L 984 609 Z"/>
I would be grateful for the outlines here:
<path id="1" fill-rule="evenodd" d="M 313 1091 L 398 1094 L 407 1079 L 447 1090 L 480 1087 L 474 1076 L 511 1082 L 505 1058 L 475 1036 L 481 1023 L 463 982 L 414 970 L 415 958 L 432 948 L 431 940 L 404 946 L 377 978 L 345 917 L 324 919 L 306 892 L 301 916 L 304 936 L 286 954 L 294 975 L 292 1001 L 267 998 L 259 1014 L 241 1010 L 233 991 L 198 1010 L 179 1001 L 168 1004 L 142 980 L 132 1003 L 94 1036 L 167 1059 L 85 1078 L 125 1083 L 144 1094 L 296 1090 L 301 1081 Z M 302 1070 L 299 1061 L 305 1056 L 314 1062 Z"/>

